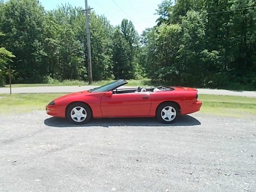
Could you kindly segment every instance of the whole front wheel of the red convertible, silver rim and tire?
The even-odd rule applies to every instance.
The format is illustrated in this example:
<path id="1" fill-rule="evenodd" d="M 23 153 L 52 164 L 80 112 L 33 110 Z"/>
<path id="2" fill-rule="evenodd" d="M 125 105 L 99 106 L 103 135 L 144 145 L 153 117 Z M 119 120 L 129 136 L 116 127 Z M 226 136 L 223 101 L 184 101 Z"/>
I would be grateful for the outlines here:
<path id="1" fill-rule="evenodd" d="M 92 117 L 92 112 L 87 104 L 75 102 L 68 106 L 66 117 L 74 124 L 85 124 Z"/>

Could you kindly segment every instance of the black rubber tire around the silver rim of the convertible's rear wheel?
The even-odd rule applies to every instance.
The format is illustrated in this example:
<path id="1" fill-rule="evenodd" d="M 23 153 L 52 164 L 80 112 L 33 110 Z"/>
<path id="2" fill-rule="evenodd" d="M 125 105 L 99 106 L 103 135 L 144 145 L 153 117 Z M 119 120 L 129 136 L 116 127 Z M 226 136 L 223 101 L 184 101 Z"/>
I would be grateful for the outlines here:
<path id="1" fill-rule="evenodd" d="M 172 108 L 170 108 L 172 113 L 174 113 L 174 110 L 175 110 L 176 115 L 174 116 L 174 115 L 171 114 L 170 119 L 168 117 L 166 117 L 166 119 L 164 120 L 162 118 L 162 114 L 164 115 L 164 112 L 162 112 L 162 110 L 164 108 L 169 110 L 169 108 L 167 108 L 168 106 L 172 107 Z M 164 103 L 160 104 L 158 106 L 158 108 L 156 109 L 156 118 L 162 123 L 166 123 L 166 124 L 173 123 L 179 118 L 179 116 L 180 116 L 180 106 L 178 104 L 174 103 L 174 102 L 164 102 Z"/>

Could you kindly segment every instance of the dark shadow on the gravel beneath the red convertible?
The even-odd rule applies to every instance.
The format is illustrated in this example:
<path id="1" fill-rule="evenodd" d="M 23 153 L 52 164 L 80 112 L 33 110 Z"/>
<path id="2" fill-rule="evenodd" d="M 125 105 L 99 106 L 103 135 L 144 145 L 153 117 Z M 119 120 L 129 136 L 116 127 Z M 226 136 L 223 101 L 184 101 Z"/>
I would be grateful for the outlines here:
<path id="1" fill-rule="evenodd" d="M 44 124 L 51 127 L 90 127 L 90 126 L 195 126 L 201 123 L 194 117 L 180 116 L 172 124 L 163 124 L 156 118 L 92 118 L 90 122 L 82 125 L 74 125 L 64 118 L 51 117 L 44 120 Z"/>

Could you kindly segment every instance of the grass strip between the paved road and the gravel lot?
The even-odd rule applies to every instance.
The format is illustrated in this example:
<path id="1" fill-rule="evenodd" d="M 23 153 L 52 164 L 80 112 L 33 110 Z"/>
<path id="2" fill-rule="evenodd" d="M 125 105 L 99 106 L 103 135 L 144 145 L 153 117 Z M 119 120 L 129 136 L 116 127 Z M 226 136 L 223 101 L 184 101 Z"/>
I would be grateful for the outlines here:
<path id="1" fill-rule="evenodd" d="M 23 113 L 33 110 L 44 110 L 58 94 L 2 94 L 0 95 L 0 114 Z M 242 118 L 256 116 L 256 98 L 238 96 L 200 95 L 203 102 L 200 113 Z"/>

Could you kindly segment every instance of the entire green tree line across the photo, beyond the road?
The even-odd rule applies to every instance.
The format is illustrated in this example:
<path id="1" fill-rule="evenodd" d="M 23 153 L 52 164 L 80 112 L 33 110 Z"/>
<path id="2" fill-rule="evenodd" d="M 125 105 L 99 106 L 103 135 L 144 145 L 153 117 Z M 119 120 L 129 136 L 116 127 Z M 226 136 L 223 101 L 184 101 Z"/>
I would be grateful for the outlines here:
<path id="1" fill-rule="evenodd" d="M 68 4 L 46 11 L 38 0 L 0 1 L 0 47 L 16 56 L 5 60 L 14 83 L 88 79 L 82 10 Z M 164 0 L 156 12 L 157 25 L 141 36 L 127 19 L 112 26 L 90 12 L 94 80 L 146 77 L 170 85 L 256 90 L 255 0 Z M 7 68 L 1 69 L 7 80 Z"/>

